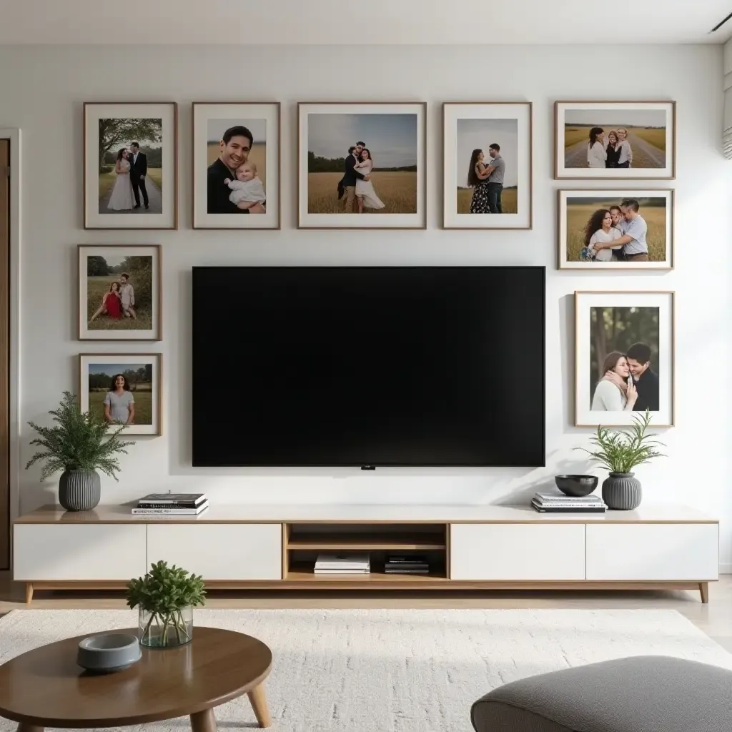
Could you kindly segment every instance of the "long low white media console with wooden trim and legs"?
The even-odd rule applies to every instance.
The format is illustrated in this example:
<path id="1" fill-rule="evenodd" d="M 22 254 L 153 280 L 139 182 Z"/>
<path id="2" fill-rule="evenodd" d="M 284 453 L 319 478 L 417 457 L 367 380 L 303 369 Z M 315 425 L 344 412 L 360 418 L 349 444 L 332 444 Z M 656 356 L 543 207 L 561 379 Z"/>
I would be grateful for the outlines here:
<path id="1" fill-rule="evenodd" d="M 369 551 L 370 575 L 315 575 L 318 551 Z M 387 553 L 429 575 L 387 575 Z M 719 521 L 641 505 L 604 514 L 523 506 L 212 506 L 197 517 L 129 506 L 46 506 L 13 523 L 13 579 L 34 589 L 122 589 L 160 559 L 210 589 L 695 589 L 719 578 Z"/>

